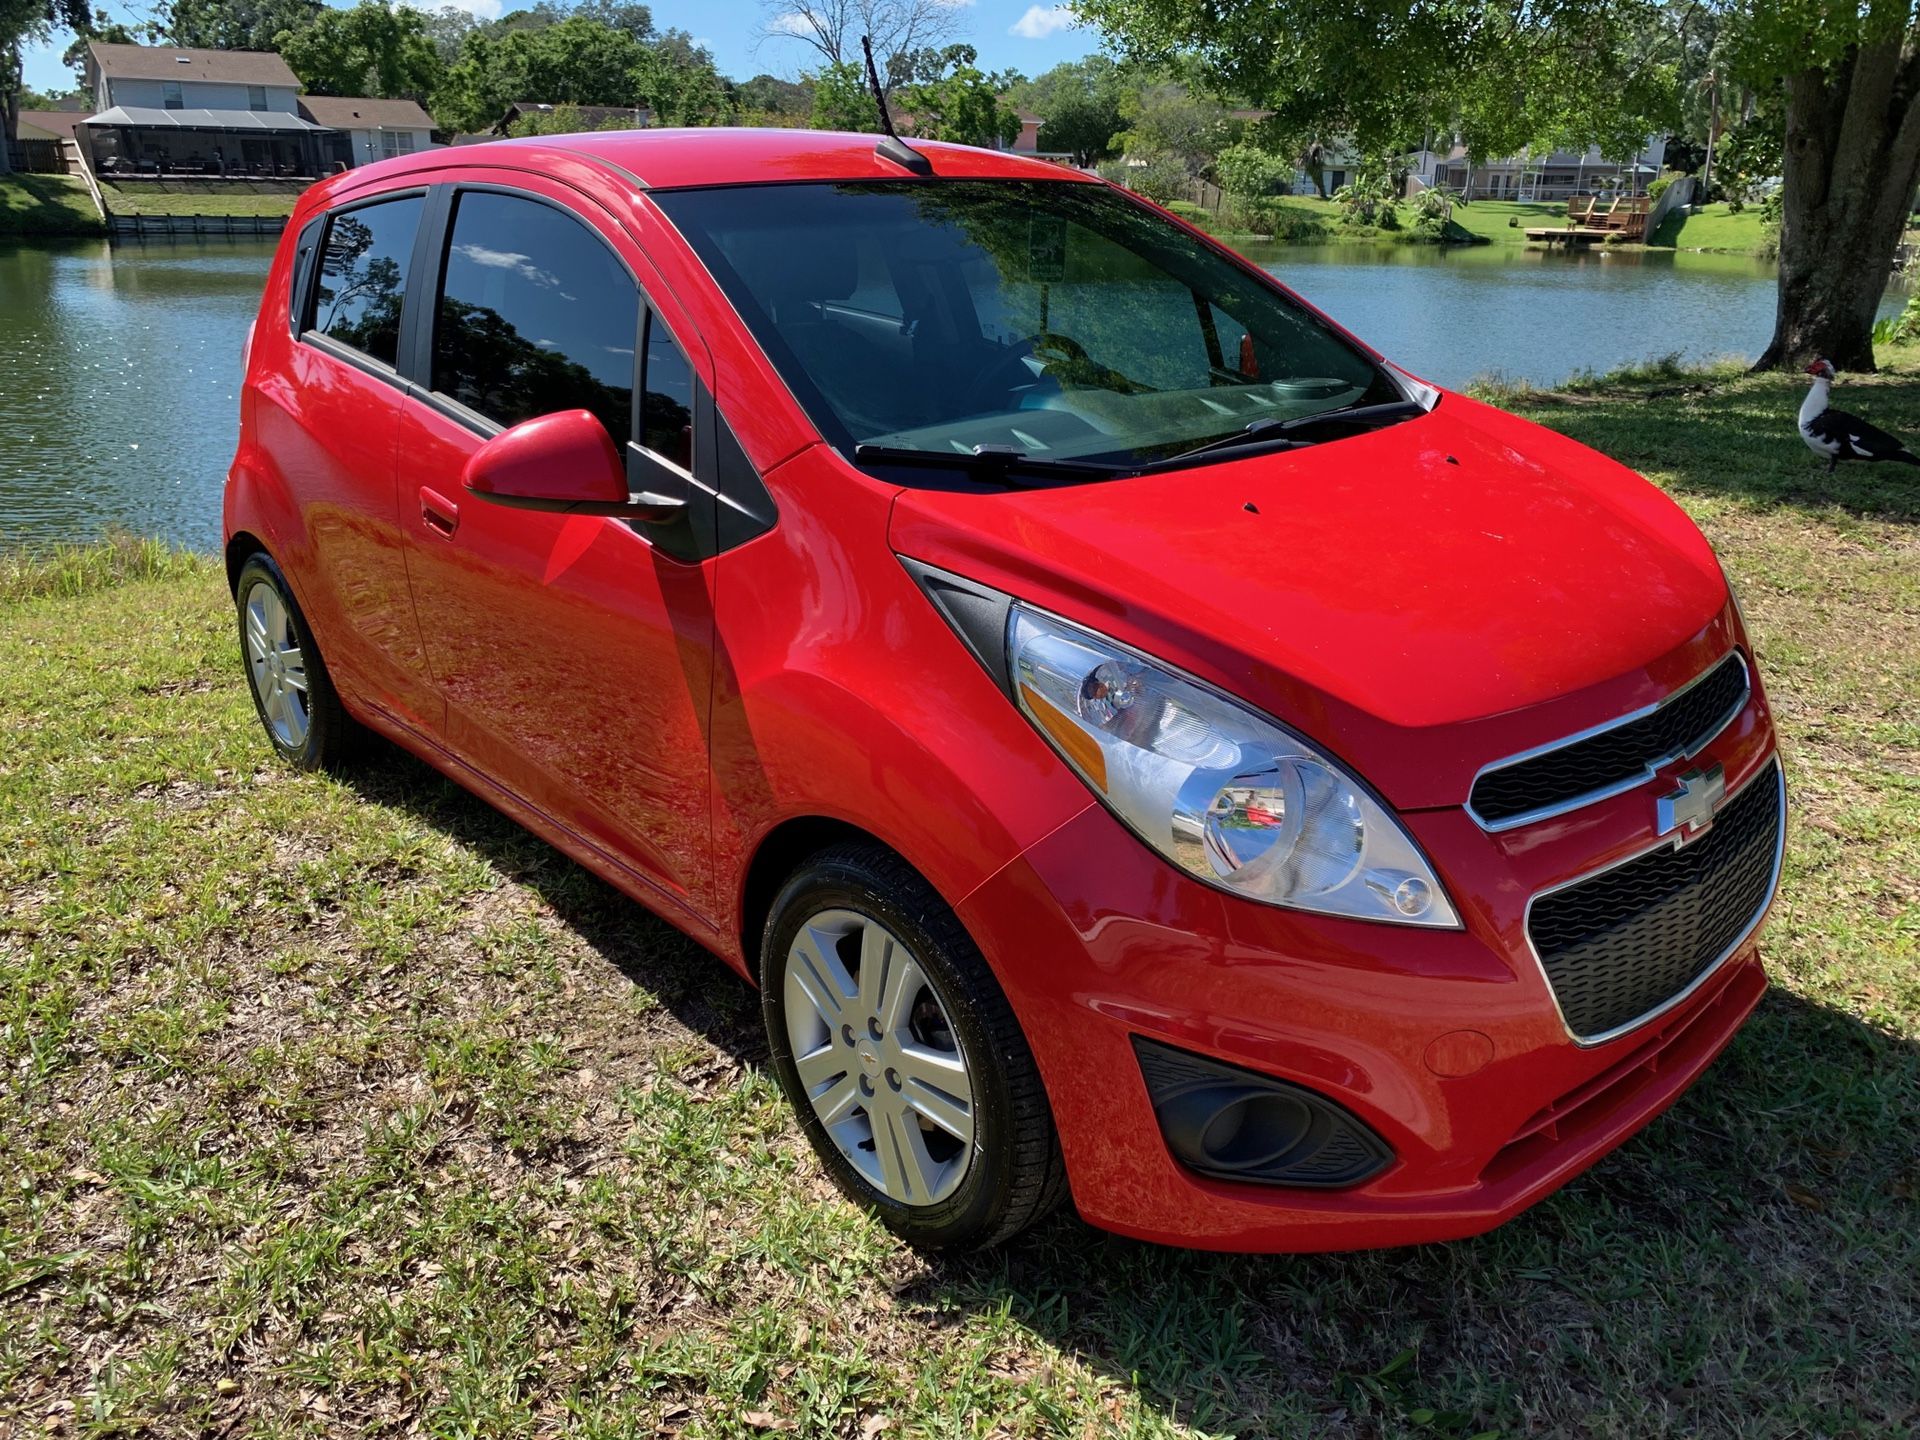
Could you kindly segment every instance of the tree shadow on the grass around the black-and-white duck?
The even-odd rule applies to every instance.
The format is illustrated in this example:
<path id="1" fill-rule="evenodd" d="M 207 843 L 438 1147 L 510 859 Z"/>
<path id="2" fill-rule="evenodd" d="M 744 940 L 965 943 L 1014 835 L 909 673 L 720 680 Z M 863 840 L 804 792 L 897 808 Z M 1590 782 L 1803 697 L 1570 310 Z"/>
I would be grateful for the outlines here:
<path id="1" fill-rule="evenodd" d="M 1797 376 L 1722 376 L 1707 386 L 1693 372 L 1611 378 L 1590 380 L 1578 394 L 1517 394 L 1507 403 L 1680 493 L 1920 522 L 1920 468 L 1849 463 L 1828 472 L 1807 449 Z M 1920 376 L 1843 382 L 1834 405 L 1920 445 Z"/>

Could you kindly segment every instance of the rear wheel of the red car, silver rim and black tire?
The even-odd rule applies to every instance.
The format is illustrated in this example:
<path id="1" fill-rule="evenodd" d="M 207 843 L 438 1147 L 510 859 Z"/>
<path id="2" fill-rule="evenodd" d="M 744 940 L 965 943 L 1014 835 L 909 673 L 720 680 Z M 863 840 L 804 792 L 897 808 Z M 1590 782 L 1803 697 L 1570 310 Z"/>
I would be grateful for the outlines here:
<path id="1" fill-rule="evenodd" d="M 307 618 L 273 557 L 248 557 L 234 584 L 234 605 L 248 689 L 273 749 L 301 770 L 344 760 L 359 726 L 342 708 Z"/>

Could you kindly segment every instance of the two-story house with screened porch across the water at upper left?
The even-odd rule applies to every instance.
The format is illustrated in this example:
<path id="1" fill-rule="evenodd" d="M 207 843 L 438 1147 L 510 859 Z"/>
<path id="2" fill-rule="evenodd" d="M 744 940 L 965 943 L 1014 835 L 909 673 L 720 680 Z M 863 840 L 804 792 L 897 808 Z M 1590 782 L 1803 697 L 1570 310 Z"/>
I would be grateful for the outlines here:
<path id="1" fill-rule="evenodd" d="M 79 146 L 100 175 L 323 175 L 324 127 L 300 113 L 300 79 L 261 50 L 86 46 L 94 115 Z"/>

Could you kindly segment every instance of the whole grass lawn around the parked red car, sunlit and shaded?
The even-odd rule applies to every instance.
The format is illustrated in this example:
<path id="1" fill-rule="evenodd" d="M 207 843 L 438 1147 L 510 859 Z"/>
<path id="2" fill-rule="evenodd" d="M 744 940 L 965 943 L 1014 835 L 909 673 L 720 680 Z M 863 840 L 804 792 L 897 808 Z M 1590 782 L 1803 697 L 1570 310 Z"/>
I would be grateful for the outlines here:
<path id="1" fill-rule="evenodd" d="M 1920 434 L 1907 363 L 1847 405 Z M 718 962 L 415 760 L 278 766 L 213 563 L 0 564 L 0 1434 L 1914 1432 L 1920 484 L 1826 476 L 1799 397 L 1509 396 L 1740 586 L 1776 983 L 1597 1169 L 1386 1254 L 916 1256 Z"/>

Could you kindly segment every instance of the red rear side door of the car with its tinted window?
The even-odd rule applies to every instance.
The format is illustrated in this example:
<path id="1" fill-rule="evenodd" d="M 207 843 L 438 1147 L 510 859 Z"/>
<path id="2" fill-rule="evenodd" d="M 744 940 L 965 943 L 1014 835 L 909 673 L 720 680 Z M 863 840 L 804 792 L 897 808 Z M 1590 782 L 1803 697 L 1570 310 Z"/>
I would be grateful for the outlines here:
<path id="1" fill-rule="evenodd" d="M 426 190 L 349 202 L 296 246 L 284 365 L 259 367 L 259 453 L 300 503 L 288 580 L 336 684 L 417 732 L 440 730 L 396 495 L 405 380 L 399 336 Z"/>

